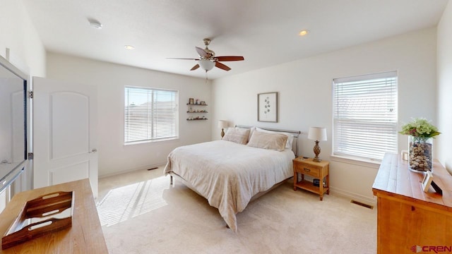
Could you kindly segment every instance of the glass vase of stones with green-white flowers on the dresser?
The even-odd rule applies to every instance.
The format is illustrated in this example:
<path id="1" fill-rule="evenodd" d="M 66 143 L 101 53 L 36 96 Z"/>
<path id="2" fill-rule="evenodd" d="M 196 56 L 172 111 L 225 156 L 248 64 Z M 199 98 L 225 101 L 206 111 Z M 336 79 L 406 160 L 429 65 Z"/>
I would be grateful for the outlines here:
<path id="1" fill-rule="evenodd" d="M 433 138 L 441 134 L 427 119 L 416 118 L 402 126 L 399 132 L 408 136 L 408 164 L 412 171 L 432 171 Z"/>

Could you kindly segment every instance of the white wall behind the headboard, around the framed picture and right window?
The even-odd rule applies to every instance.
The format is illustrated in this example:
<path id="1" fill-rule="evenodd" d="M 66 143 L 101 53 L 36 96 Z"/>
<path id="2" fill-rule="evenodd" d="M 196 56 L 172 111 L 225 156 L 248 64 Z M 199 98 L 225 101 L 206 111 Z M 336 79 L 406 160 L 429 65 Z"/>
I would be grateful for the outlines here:
<path id="1" fill-rule="evenodd" d="M 215 122 L 245 124 L 307 132 L 309 126 L 324 126 L 328 141 L 321 142 L 321 159 L 331 161 L 331 191 L 364 202 L 374 202 L 371 186 L 378 170 L 367 164 L 333 161 L 331 155 L 332 80 L 354 75 L 398 71 L 400 122 L 411 117 L 436 121 L 436 28 L 429 28 L 357 47 L 300 59 L 213 81 L 213 139 Z M 278 123 L 257 121 L 257 94 L 279 92 Z M 399 150 L 408 148 L 408 138 L 399 135 Z M 299 138 L 301 155 L 313 157 L 314 142 Z"/>

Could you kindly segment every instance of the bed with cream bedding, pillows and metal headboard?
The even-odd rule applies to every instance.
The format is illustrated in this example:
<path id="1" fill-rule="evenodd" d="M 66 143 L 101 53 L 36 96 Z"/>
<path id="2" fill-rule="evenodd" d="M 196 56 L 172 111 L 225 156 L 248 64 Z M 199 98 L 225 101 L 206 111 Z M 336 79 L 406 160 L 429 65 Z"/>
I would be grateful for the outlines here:
<path id="1" fill-rule="evenodd" d="M 174 149 L 167 157 L 165 176 L 171 176 L 171 183 L 176 176 L 206 198 L 237 232 L 236 214 L 251 199 L 293 176 L 299 133 L 236 126 L 222 140 Z"/>

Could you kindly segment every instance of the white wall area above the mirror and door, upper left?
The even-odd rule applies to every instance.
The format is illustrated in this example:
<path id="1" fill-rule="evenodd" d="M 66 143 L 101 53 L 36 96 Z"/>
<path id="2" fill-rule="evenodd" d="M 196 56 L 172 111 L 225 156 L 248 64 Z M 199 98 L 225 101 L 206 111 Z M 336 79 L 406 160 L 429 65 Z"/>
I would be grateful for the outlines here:
<path id="1" fill-rule="evenodd" d="M 0 56 L 29 75 L 45 76 L 45 49 L 22 1 L 0 1 Z"/>

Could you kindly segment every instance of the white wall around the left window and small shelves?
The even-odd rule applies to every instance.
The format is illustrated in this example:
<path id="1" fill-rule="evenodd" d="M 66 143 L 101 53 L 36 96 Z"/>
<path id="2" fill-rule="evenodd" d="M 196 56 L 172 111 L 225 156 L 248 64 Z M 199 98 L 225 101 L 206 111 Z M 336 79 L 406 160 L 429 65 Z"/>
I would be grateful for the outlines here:
<path id="1" fill-rule="evenodd" d="M 210 113 L 207 121 L 186 121 L 189 97 L 210 104 L 210 81 L 52 53 L 47 54 L 47 78 L 97 85 L 101 177 L 165 164 L 175 147 L 210 140 Z M 178 140 L 124 145 L 125 85 L 179 90 Z"/>

